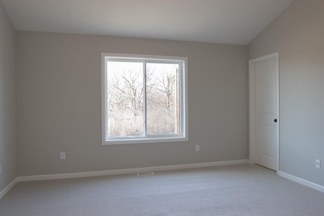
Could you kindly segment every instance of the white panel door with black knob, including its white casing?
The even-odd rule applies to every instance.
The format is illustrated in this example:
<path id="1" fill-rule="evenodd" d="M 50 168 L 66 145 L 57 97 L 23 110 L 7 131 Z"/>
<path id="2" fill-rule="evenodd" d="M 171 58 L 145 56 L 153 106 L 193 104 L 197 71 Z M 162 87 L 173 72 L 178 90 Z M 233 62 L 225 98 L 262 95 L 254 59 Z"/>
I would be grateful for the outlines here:
<path id="1" fill-rule="evenodd" d="M 277 53 L 250 61 L 250 161 L 273 170 L 278 169 L 278 74 Z"/>

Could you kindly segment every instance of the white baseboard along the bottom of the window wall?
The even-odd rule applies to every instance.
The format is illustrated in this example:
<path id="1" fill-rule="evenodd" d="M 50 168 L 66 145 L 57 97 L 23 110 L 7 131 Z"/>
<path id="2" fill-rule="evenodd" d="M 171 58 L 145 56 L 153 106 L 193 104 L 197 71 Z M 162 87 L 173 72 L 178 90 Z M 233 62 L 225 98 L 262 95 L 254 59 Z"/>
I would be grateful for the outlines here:
<path id="1" fill-rule="evenodd" d="M 249 160 L 248 159 L 229 160 L 229 161 L 208 162 L 208 163 L 191 163 L 191 164 L 170 165 L 170 166 L 152 166 L 152 167 L 132 168 L 132 169 L 114 169 L 114 170 L 91 171 L 91 172 L 74 172 L 74 173 L 69 173 L 69 174 L 22 176 L 22 177 L 18 177 L 17 179 L 18 179 L 18 182 L 54 180 L 54 179 L 71 179 L 71 178 L 109 176 L 109 175 L 119 175 L 119 174 L 136 174 L 137 172 L 165 171 L 165 170 L 175 170 L 175 169 L 234 165 L 234 164 L 243 164 L 243 163 L 249 163 Z"/>

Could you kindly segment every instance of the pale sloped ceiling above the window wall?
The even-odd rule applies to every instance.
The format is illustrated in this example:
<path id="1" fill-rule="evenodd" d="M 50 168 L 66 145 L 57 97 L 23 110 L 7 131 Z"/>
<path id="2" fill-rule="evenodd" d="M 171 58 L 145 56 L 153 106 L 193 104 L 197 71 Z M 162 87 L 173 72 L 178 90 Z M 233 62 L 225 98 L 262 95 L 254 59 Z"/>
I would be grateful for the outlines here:
<path id="1" fill-rule="evenodd" d="M 294 0 L 0 0 L 16 30 L 248 45 Z"/>

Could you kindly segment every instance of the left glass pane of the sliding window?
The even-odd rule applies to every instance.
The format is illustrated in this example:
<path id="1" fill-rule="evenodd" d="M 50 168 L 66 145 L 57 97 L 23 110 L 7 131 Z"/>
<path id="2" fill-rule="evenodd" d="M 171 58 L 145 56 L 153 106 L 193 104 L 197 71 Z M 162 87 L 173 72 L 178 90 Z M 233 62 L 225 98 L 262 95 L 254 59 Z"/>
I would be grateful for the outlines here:
<path id="1" fill-rule="evenodd" d="M 107 62 L 109 137 L 143 135 L 143 63 Z"/>

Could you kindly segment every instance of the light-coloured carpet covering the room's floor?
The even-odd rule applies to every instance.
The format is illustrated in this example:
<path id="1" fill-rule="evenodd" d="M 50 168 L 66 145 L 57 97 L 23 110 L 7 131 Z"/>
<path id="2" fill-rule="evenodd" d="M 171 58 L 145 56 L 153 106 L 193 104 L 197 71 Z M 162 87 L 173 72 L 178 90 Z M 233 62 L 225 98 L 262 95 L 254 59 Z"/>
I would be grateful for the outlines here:
<path id="1" fill-rule="evenodd" d="M 241 164 L 17 183 L 0 215 L 324 215 L 324 193 Z"/>

